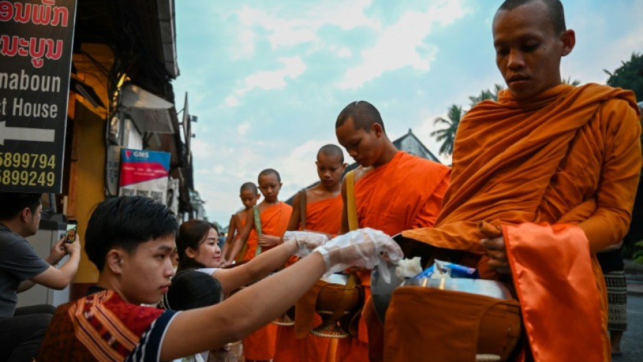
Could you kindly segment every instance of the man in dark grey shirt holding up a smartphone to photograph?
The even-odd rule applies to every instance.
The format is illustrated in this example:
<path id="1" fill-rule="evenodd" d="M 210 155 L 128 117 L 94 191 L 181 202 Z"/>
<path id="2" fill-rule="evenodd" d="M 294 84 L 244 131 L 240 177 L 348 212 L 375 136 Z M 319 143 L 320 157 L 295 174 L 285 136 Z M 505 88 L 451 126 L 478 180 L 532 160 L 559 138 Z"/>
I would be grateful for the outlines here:
<path id="1" fill-rule="evenodd" d="M 38 353 L 51 316 L 52 305 L 16 308 L 18 293 L 36 284 L 64 289 L 80 261 L 77 235 L 58 240 L 42 259 L 25 237 L 36 234 L 42 205 L 40 194 L 0 192 L 0 361 L 32 361 Z M 68 261 L 55 268 L 65 255 Z"/>

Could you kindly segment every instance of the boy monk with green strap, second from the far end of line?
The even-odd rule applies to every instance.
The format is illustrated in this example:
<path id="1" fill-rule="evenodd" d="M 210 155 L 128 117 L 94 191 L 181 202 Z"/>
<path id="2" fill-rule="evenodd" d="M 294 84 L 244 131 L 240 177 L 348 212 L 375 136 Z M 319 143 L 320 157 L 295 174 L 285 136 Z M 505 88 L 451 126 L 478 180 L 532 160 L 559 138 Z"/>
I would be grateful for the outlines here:
<path id="1" fill-rule="evenodd" d="M 267 168 L 259 173 L 259 190 L 263 194 L 263 201 L 257 205 L 256 210 L 254 207 L 248 210 L 246 216 L 248 221 L 241 229 L 226 265 L 230 265 L 231 261 L 235 260 L 244 244 L 247 245 L 244 260 L 250 260 L 280 243 L 292 212 L 290 205 L 278 200 L 281 185 L 281 177 L 276 170 Z M 259 223 L 255 222 L 255 218 Z M 252 239 L 249 235 L 252 233 L 257 235 L 255 244 L 250 244 Z M 273 359 L 276 334 L 277 326 L 271 323 L 244 338 L 246 361 L 270 361 Z"/>

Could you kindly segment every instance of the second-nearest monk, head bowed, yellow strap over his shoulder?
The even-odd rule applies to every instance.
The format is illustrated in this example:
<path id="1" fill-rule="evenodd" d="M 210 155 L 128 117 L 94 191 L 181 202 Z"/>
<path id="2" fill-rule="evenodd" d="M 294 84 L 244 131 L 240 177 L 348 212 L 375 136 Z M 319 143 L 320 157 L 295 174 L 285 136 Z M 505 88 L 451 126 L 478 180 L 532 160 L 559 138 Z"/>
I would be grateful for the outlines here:
<path id="1" fill-rule="evenodd" d="M 341 111 L 335 133 L 359 164 L 354 170 L 353 190 L 347 190 L 347 179 L 342 183 L 340 233 L 371 227 L 392 236 L 407 229 L 433 226 L 449 186 L 449 167 L 397 150 L 384 131 L 380 112 L 365 101 L 350 103 Z M 350 193 L 354 193 L 356 207 L 354 225 L 349 225 Z M 368 361 L 369 354 L 371 361 L 382 358 L 382 325 L 377 322 L 370 300 L 371 273 L 357 273 L 364 288 L 365 308 L 358 338 L 339 341 L 337 361 Z M 373 321 L 368 330 L 365 320 Z"/>

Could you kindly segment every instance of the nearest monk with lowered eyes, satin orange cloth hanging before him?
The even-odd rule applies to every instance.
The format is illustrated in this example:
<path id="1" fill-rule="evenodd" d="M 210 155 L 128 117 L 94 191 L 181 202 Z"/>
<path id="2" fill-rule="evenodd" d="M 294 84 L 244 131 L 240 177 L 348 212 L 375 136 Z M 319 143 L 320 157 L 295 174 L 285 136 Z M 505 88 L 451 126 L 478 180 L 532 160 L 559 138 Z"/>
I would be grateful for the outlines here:
<path id="1" fill-rule="evenodd" d="M 460 263 L 483 278 L 512 282 L 527 332 L 513 360 L 610 361 L 594 253 L 620 242 L 630 222 L 642 163 L 638 106 L 630 91 L 562 83 L 560 60 L 575 33 L 559 1 L 506 1 L 493 38 L 508 90 L 460 122 L 436 226 L 403 235 L 460 250 Z M 460 339 L 430 343 L 428 329 L 441 328 L 434 320 L 402 322 L 421 298 L 396 294 L 404 288 L 386 313 L 384 359 L 470 359 L 454 346 L 473 336 L 471 326 L 443 324 Z"/>

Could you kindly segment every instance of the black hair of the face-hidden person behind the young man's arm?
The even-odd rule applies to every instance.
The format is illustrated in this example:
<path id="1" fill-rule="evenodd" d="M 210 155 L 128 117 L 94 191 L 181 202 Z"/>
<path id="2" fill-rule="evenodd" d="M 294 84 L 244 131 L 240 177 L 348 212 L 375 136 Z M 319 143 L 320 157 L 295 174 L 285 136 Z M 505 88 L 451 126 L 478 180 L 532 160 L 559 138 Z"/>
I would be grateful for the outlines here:
<path id="1" fill-rule="evenodd" d="M 221 301 L 221 283 L 211 275 L 196 270 L 183 270 L 172 278 L 159 307 L 185 311 L 215 305 Z"/>

